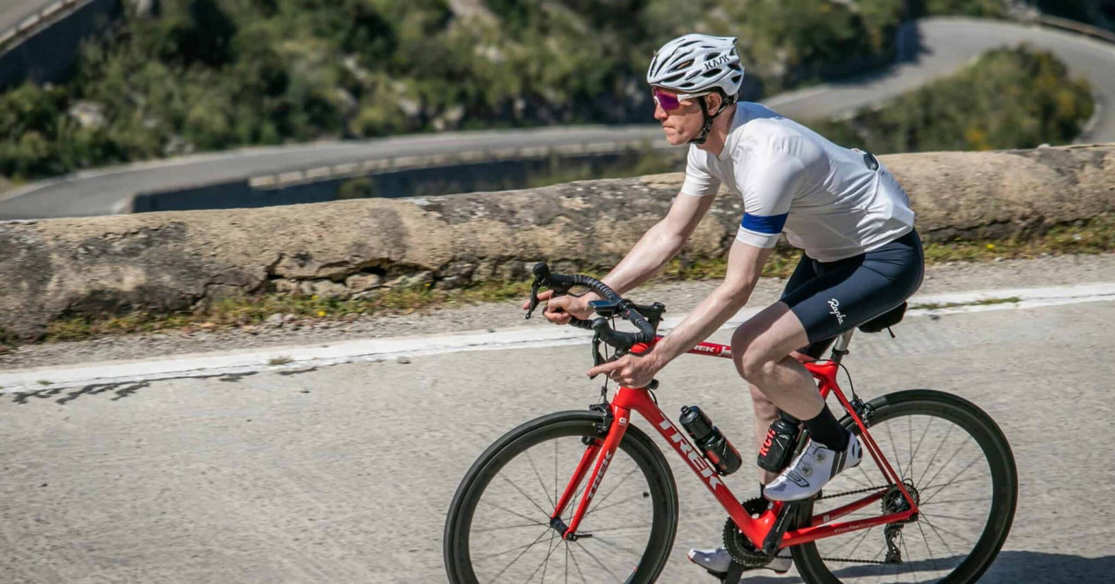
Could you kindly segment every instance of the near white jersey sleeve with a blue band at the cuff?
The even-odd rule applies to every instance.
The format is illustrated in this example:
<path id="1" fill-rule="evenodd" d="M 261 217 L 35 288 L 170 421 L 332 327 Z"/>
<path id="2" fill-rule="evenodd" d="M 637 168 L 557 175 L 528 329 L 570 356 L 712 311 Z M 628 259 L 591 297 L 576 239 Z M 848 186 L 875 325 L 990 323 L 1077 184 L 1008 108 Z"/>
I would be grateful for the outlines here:
<path id="1" fill-rule="evenodd" d="M 756 247 L 774 247 L 804 181 L 805 165 L 778 147 L 753 149 L 746 156 L 746 165 L 736 165 L 736 183 L 744 196 L 744 218 L 736 240 Z"/>

